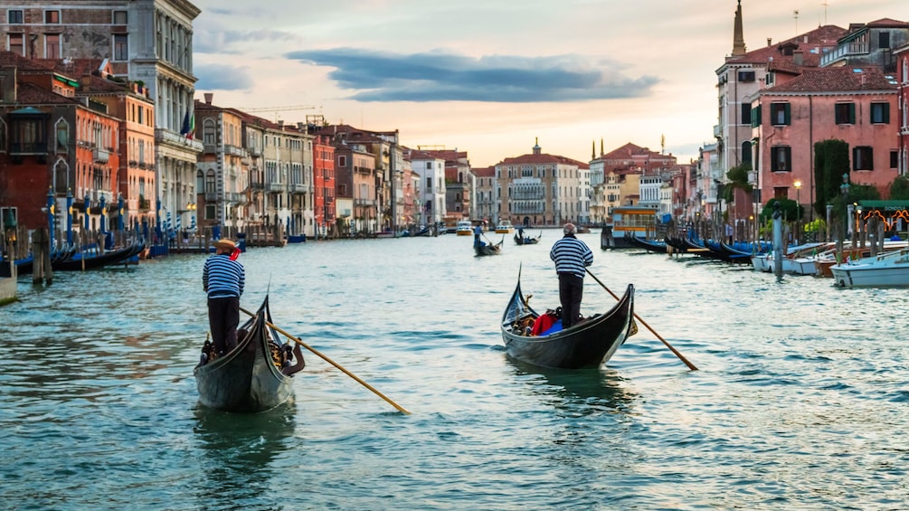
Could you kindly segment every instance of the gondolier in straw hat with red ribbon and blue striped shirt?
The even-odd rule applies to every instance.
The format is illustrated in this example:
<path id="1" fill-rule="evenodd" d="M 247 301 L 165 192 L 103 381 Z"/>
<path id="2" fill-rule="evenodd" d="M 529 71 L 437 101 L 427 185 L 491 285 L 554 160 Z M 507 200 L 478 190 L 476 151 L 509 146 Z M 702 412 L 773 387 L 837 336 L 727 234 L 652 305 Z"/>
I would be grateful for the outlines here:
<path id="1" fill-rule="evenodd" d="M 240 254 L 229 239 L 215 242 L 215 255 L 205 260 L 202 285 L 208 294 L 208 324 L 218 356 L 236 346 L 236 327 L 240 324 L 240 296 L 245 286 L 245 269 L 236 260 Z"/>

